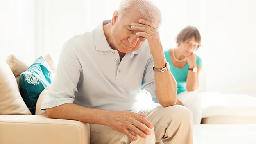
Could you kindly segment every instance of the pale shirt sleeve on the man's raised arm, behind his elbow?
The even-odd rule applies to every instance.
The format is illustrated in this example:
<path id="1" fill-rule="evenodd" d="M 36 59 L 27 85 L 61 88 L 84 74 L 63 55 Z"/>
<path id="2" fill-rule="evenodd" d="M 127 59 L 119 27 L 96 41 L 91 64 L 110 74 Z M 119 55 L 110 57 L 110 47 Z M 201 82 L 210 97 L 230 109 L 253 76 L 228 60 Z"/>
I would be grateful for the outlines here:
<path id="1" fill-rule="evenodd" d="M 142 82 L 142 90 L 147 90 L 150 92 L 151 97 L 153 98 L 155 90 L 156 90 L 156 83 L 155 83 L 155 74 L 153 70 L 154 65 L 154 58 L 151 56 L 149 58 L 149 62 L 147 64 L 147 67 L 145 69 L 145 75 L 143 77 Z"/>

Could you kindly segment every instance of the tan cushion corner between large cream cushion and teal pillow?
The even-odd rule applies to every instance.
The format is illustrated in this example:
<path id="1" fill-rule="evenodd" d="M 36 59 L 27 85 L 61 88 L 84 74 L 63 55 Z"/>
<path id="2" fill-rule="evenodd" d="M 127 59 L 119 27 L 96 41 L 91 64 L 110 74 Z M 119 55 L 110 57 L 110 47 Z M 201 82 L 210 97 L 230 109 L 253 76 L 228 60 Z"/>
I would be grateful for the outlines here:
<path id="1" fill-rule="evenodd" d="M 22 61 L 18 60 L 18 58 L 16 58 L 13 54 L 7 57 L 6 63 L 11 68 L 11 71 L 13 72 L 17 83 L 19 83 L 20 74 L 25 72 L 28 66 Z"/>

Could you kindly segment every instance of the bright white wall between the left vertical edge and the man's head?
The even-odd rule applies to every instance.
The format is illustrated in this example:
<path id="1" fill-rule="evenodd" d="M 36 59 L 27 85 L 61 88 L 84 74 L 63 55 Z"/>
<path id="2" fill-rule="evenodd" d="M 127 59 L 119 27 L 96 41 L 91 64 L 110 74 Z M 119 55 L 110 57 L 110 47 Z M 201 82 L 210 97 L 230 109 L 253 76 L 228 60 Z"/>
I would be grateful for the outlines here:
<path id="1" fill-rule="evenodd" d="M 70 37 L 77 33 L 92 30 L 102 20 L 111 18 L 112 8 L 118 7 L 119 1 L 109 0 L 36 0 L 36 7 L 41 11 L 42 20 L 38 23 L 41 52 L 50 53 L 58 58 L 59 52 Z M 99 4 L 100 3 L 100 4 Z M 113 3 L 113 4 L 112 4 Z M 111 7 L 109 8 L 109 4 Z"/>

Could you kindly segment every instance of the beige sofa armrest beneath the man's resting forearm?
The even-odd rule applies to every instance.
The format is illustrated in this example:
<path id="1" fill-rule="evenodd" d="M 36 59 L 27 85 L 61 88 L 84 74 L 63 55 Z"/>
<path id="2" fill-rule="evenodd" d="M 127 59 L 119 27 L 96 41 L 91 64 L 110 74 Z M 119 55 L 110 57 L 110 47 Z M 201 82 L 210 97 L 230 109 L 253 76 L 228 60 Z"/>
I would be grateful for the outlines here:
<path id="1" fill-rule="evenodd" d="M 39 115 L 0 115 L 0 144 L 90 144 L 90 126 Z"/>

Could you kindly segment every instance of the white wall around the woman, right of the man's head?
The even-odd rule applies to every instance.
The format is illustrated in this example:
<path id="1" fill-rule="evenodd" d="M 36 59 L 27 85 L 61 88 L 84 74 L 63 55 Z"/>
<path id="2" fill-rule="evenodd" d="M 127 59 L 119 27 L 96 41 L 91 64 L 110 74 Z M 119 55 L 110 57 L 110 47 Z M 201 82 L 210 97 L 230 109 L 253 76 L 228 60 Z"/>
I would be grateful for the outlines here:
<path id="1" fill-rule="evenodd" d="M 201 91 L 256 96 L 256 0 L 161 0 L 165 48 L 186 25 L 202 34 Z M 202 88 L 203 86 L 203 88 Z"/>

